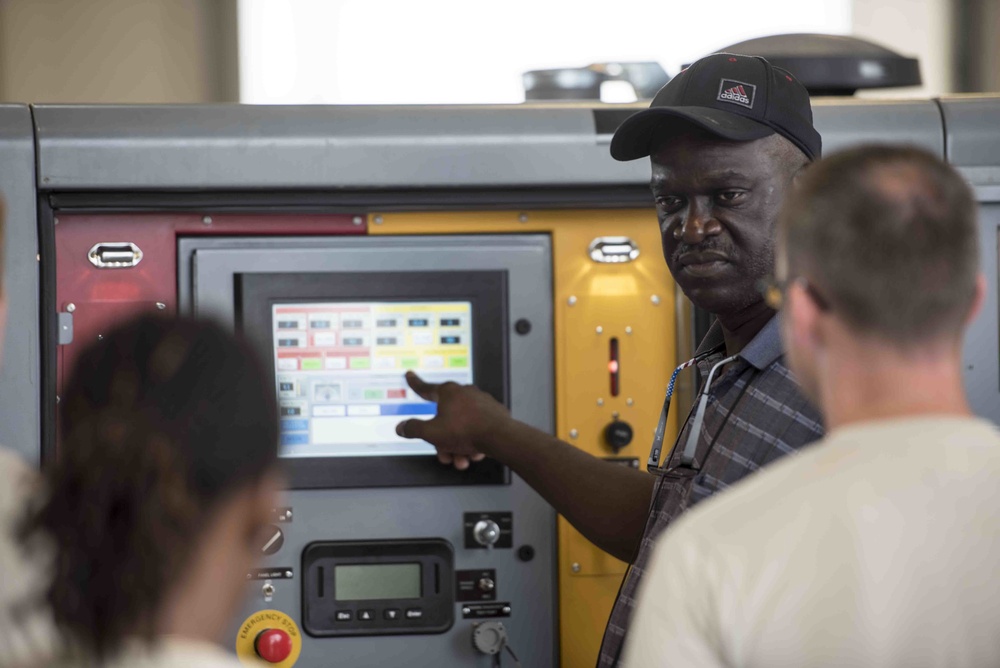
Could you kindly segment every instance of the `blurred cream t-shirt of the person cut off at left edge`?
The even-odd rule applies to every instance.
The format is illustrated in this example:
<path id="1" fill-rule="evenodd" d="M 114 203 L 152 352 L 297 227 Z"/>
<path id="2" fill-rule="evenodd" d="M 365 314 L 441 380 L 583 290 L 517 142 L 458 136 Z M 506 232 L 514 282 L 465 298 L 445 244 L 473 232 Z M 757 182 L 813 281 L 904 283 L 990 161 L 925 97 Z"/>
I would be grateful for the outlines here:
<path id="1" fill-rule="evenodd" d="M 30 553 L 18 537 L 39 484 L 34 469 L 0 448 L 0 668 L 43 665 L 56 650 L 55 626 L 44 605 L 46 550 L 36 545 Z"/>

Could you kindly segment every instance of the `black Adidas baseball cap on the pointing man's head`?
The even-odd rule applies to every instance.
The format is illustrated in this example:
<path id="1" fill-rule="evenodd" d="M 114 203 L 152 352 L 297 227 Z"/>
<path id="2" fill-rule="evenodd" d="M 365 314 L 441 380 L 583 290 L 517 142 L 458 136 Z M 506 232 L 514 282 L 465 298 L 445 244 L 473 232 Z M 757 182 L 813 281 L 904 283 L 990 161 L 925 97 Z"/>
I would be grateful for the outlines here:
<path id="1" fill-rule="evenodd" d="M 810 160 L 822 152 L 805 86 L 759 56 L 716 53 L 692 63 L 656 93 L 649 109 L 625 119 L 611 139 L 611 156 L 646 157 L 656 128 L 678 121 L 733 141 L 778 133 Z"/>

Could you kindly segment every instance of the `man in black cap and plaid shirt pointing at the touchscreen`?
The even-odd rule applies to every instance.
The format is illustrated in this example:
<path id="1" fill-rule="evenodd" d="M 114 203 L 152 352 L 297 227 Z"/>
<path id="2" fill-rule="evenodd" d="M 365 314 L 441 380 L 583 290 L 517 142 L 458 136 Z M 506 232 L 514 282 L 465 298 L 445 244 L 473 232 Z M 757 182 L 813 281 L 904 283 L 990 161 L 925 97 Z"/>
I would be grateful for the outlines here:
<path id="1" fill-rule="evenodd" d="M 694 63 L 615 133 L 616 159 L 650 157 L 664 258 L 691 301 L 717 318 L 692 360 L 704 383 L 698 408 L 665 465 L 651 461 L 655 476 L 608 466 L 519 423 L 475 388 L 408 376 L 438 414 L 401 423 L 400 435 L 433 443 L 459 468 L 487 455 L 504 462 L 587 538 L 632 562 L 599 666 L 618 661 L 636 585 L 668 524 L 822 436 L 757 289 L 772 274 L 778 210 L 820 146 L 805 88 L 762 58 L 731 54 Z M 660 443 L 654 450 L 658 459 Z"/>

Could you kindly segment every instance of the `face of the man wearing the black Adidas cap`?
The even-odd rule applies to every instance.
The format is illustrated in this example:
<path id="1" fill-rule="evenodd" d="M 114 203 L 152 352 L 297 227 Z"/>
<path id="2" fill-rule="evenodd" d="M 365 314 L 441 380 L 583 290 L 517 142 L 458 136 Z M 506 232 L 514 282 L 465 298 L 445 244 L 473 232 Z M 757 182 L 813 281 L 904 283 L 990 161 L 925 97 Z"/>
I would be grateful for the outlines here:
<path id="1" fill-rule="evenodd" d="M 761 301 L 757 285 L 772 272 L 775 220 L 798 167 L 784 142 L 689 133 L 650 156 L 663 257 L 696 306 L 724 317 Z"/>

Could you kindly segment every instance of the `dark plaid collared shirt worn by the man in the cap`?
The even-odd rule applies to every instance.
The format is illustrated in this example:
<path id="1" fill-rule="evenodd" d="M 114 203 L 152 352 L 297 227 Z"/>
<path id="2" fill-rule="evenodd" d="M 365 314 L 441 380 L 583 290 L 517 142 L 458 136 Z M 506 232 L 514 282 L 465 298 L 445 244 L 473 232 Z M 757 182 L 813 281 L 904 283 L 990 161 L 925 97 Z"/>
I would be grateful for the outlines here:
<path id="1" fill-rule="evenodd" d="M 722 349 L 723 345 L 722 328 L 716 322 L 698 347 L 698 353 Z M 720 351 L 698 362 L 701 377 L 707 378 L 712 366 L 724 357 L 725 353 Z M 669 466 L 680 463 L 690 429 L 689 419 L 678 435 Z M 625 575 L 604 632 L 599 667 L 618 663 L 635 607 L 636 589 L 653 542 L 673 519 L 702 499 L 822 436 L 819 412 L 806 401 L 785 366 L 779 322 L 774 317 L 744 347 L 735 362 L 717 373 L 712 383 L 695 456 L 695 466 L 700 472 L 694 477 L 668 476 L 657 482 L 639 553 Z"/>

